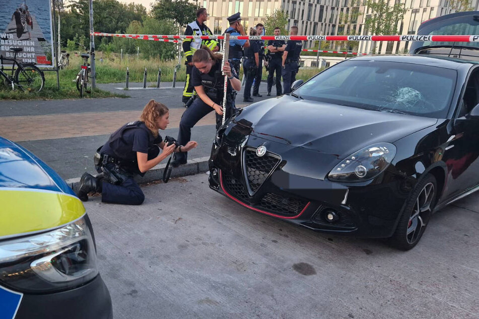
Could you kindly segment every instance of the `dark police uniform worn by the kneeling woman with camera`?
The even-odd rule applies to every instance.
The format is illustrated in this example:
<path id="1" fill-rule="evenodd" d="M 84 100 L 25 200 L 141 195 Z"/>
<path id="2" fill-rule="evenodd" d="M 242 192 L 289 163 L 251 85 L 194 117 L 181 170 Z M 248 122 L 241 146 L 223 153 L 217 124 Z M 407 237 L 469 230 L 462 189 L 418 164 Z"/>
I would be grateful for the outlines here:
<path id="1" fill-rule="evenodd" d="M 138 168 L 136 152 L 147 153 L 153 159 L 160 153 L 163 138 L 157 137 L 142 121 L 129 122 L 111 134 L 108 141 L 99 149 L 99 162 L 95 163 L 101 181 L 102 202 L 140 205 L 145 200 L 134 175 L 144 176 Z"/>

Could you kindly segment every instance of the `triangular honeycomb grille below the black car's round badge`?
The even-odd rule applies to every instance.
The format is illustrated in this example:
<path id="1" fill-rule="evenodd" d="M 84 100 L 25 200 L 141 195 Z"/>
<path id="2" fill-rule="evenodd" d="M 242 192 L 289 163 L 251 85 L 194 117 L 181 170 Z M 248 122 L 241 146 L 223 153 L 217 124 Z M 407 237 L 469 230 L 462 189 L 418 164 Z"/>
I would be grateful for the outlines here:
<path id="1" fill-rule="evenodd" d="M 246 149 L 244 151 L 244 169 L 248 178 L 248 186 L 251 194 L 254 194 L 264 183 L 269 173 L 276 168 L 280 158 L 270 153 L 259 157 L 256 151 Z"/>

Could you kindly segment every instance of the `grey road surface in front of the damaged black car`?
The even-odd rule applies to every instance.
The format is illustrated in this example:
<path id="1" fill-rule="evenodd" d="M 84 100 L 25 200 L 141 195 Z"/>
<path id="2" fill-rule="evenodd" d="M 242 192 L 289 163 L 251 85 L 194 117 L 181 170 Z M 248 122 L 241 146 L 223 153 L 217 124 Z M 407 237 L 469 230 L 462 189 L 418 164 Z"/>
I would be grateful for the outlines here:
<path id="1" fill-rule="evenodd" d="M 85 203 L 115 318 L 478 318 L 479 195 L 436 213 L 408 252 L 250 211 L 208 176 Z"/>

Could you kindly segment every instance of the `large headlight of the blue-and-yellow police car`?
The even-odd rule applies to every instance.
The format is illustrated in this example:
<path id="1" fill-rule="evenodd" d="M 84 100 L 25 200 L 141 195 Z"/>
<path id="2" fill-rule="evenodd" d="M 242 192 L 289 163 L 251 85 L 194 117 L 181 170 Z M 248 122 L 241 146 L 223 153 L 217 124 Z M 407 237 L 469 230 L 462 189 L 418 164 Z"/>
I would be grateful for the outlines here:
<path id="1" fill-rule="evenodd" d="M 49 232 L 0 242 L 0 283 L 13 290 L 67 290 L 97 274 L 93 237 L 84 217 Z"/>

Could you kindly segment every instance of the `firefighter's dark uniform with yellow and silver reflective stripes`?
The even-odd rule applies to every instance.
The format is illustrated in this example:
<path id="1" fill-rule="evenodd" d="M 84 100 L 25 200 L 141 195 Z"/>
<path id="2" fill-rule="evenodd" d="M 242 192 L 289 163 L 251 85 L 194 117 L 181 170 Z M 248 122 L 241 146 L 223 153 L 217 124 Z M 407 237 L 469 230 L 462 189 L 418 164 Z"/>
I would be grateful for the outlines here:
<path id="1" fill-rule="evenodd" d="M 198 20 L 191 22 L 185 30 L 185 35 L 213 35 L 210 28 L 206 24 L 198 23 Z M 191 85 L 191 70 L 193 69 L 192 65 L 188 63 L 192 62 L 194 51 L 201 48 L 201 45 L 205 45 L 213 50 L 216 46 L 219 46 L 219 42 L 215 40 L 201 40 L 201 39 L 184 39 L 183 40 L 183 52 L 185 53 L 185 64 L 186 64 L 186 82 L 183 90 L 183 103 L 188 102 L 188 100 L 193 96 L 193 86 Z"/>

